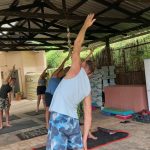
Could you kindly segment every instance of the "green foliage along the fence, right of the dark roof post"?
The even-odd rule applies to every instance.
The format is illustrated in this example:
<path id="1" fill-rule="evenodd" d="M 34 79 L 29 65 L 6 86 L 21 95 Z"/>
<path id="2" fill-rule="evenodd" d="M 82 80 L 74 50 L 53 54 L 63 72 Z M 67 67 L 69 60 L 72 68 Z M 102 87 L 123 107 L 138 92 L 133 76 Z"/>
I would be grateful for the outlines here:
<path id="1" fill-rule="evenodd" d="M 111 44 L 113 59 L 116 66 L 125 71 L 144 69 L 144 59 L 150 58 L 150 35 L 143 35 Z"/>

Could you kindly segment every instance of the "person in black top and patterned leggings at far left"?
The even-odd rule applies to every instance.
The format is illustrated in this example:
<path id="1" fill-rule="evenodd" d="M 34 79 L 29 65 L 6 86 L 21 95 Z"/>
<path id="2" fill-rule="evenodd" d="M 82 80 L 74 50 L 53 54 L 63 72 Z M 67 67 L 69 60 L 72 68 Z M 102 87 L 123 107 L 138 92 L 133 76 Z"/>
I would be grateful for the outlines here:
<path id="1" fill-rule="evenodd" d="M 5 80 L 5 83 L 2 84 L 0 88 L 0 129 L 3 128 L 3 110 L 5 110 L 6 127 L 11 126 L 9 122 L 9 110 L 12 98 L 12 86 L 16 81 L 16 78 L 13 77 L 14 71 L 15 66 L 13 66 L 13 69 L 10 71 L 8 77 Z"/>

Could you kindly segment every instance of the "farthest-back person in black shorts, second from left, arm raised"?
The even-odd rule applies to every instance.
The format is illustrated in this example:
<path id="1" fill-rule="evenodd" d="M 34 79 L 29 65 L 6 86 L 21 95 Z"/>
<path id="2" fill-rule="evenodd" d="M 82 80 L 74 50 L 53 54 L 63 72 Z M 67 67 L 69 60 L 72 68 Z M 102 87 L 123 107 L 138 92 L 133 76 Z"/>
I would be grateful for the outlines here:
<path id="1" fill-rule="evenodd" d="M 45 90 L 46 90 L 46 77 L 47 77 L 47 73 L 46 70 L 48 69 L 48 67 L 42 72 L 42 74 L 39 77 L 38 80 L 38 85 L 37 85 L 37 107 L 36 107 L 36 113 L 39 112 L 39 105 L 40 105 L 40 101 L 42 99 L 43 101 L 43 105 L 44 108 L 45 106 Z"/>

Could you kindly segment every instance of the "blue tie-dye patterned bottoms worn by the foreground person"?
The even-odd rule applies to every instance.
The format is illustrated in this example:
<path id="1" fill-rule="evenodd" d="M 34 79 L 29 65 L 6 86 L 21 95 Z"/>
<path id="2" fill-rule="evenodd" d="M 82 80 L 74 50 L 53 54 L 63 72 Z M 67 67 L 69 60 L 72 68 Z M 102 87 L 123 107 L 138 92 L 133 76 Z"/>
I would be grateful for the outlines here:
<path id="1" fill-rule="evenodd" d="M 81 150 L 82 134 L 79 120 L 51 112 L 46 150 Z"/>

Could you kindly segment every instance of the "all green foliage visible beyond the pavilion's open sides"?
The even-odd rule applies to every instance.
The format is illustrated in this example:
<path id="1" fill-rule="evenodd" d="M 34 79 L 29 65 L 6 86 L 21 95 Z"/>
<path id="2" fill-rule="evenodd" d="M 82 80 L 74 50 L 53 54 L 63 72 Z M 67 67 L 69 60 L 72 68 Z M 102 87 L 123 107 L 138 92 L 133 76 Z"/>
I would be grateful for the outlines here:
<path id="1" fill-rule="evenodd" d="M 143 59 L 150 58 L 150 35 L 147 34 L 121 42 L 116 42 L 111 44 L 110 47 L 113 62 L 116 66 L 122 67 L 126 71 L 142 70 L 144 68 Z M 94 57 L 99 59 L 100 55 L 104 55 L 103 52 L 101 53 L 103 49 L 104 46 L 95 48 L 93 54 Z M 85 59 L 88 54 L 89 50 L 84 48 L 80 55 L 81 59 Z M 68 52 L 64 52 L 63 50 L 50 50 L 49 52 L 46 52 L 47 64 L 52 68 L 57 68 L 67 55 Z M 70 64 L 71 60 L 69 59 L 65 66 Z"/>

